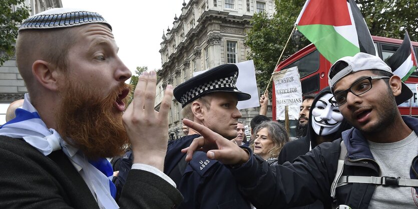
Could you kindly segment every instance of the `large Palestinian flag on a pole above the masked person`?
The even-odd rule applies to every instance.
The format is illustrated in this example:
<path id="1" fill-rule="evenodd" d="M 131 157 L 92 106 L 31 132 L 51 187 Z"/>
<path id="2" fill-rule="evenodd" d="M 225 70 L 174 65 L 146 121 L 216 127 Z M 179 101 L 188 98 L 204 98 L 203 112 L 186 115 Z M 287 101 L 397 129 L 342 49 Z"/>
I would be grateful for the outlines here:
<path id="1" fill-rule="evenodd" d="M 307 0 L 295 24 L 332 64 L 359 52 L 376 55 L 370 32 L 353 0 Z"/>

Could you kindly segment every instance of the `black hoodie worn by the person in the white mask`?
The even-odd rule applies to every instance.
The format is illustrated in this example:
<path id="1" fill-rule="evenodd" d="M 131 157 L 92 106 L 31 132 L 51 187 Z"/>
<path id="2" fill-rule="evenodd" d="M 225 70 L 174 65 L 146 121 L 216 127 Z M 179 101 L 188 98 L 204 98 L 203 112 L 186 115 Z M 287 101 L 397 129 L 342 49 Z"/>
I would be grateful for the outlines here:
<path id="1" fill-rule="evenodd" d="M 329 87 L 323 88 L 318 93 L 318 95 L 316 95 L 316 97 L 313 99 L 311 108 L 309 110 L 309 122 L 308 122 L 308 129 L 307 129 L 306 136 L 300 139 L 296 139 L 294 141 L 288 142 L 283 146 L 278 157 L 279 164 L 283 164 L 286 161 L 293 162 L 293 160 L 296 159 L 298 156 L 306 154 L 310 150 L 309 144 L 311 144 L 311 149 L 315 148 L 315 146 L 318 145 L 315 140 L 315 137 L 317 135 L 315 131 L 313 130 L 312 123 L 311 123 L 312 110 L 315 107 L 315 104 L 318 101 L 318 99 L 321 98 L 326 93 L 332 94 Z M 336 132 L 331 134 L 332 139 L 335 140 L 335 139 L 341 138 L 341 132 L 348 130 L 350 128 L 351 128 L 351 125 L 349 125 L 347 121 L 343 119 L 339 129 Z M 300 206 L 300 207 L 294 207 L 294 208 L 324 208 L 324 205 L 322 204 L 321 201 L 317 200 L 316 202 L 312 204 Z"/>

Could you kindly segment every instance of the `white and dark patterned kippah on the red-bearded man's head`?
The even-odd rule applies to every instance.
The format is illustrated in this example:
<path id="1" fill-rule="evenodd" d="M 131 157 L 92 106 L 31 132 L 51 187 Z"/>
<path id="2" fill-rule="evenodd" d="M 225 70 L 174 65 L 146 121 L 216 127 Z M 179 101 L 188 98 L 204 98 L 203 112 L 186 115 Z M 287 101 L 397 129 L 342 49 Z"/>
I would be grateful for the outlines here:
<path id="1" fill-rule="evenodd" d="M 19 31 L 25 29 L 67 28 L 90 23 L 104 23 L 112 30 L 112 26 L 98 13 L 80 9 L 54 8 L 26 19 Z"/>

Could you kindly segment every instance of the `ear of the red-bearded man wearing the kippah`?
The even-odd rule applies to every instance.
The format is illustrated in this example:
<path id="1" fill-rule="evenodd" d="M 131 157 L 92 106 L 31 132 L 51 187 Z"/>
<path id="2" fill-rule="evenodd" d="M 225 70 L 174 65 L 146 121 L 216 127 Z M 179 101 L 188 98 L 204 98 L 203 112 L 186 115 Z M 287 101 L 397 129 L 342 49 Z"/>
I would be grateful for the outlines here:
<path id="1" fill-rule="evenodd" d="M 32 65 L 32 73 L 36 80 L 45 88 L 56 91 L 59 73 L 57 68 L 49 62 L 37 60 Z"/>

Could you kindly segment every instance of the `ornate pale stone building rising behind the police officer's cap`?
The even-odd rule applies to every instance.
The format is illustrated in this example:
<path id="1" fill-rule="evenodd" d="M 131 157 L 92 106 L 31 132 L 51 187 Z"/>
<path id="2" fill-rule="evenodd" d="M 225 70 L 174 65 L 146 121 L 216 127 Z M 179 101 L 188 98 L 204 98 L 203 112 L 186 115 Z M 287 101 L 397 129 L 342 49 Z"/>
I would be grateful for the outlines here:
<path id="1" fill-rule="evenodd" d="M 184 2 L 180 16 L 174 17 L 173 27 L 166 33 L 163 31 L 156 109 L 167 84 L 176 87 L 191 78 L 194 72 L 246 61 L 250 49 L 245 46 L 244 39 L 251 28 L 250 19 L 257 12 L 272 14 L 274 7 L 274 0 Z M 173 99 L 169 127 L 171 138 L 183 135 L 181 109 L 180 103 Z M 241 110 L 241 113 L 240 121 L 249 125 L 258 110 L 250 108 Z"/>

